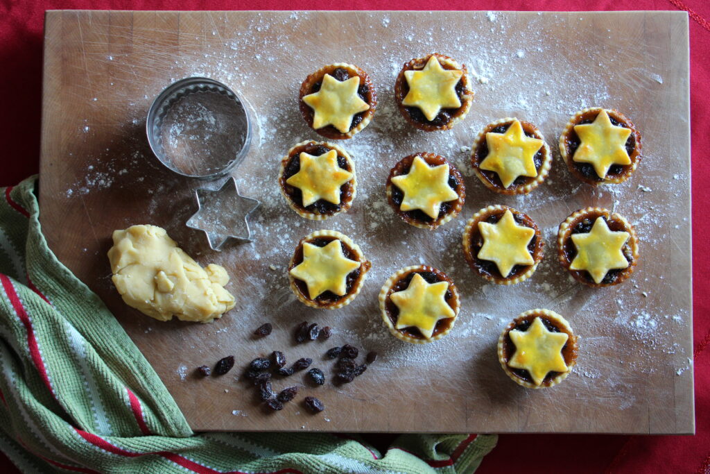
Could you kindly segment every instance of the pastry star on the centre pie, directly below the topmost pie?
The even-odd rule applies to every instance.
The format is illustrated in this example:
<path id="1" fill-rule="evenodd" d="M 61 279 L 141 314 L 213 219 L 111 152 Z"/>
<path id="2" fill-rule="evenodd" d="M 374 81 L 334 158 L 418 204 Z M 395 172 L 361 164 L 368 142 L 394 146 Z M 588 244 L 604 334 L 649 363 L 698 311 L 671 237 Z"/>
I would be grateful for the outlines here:
<path id="1" fill-rule="evenodd" d="M 409 173 L 393 177 L 392 183 L 404 193 L 401 210 L 418 209 L 432 219 L 439 217 L 442 203 L 459 198 L 449 186 L 449 165 L 432 167 L 421 156 L 415 156 Z"/>

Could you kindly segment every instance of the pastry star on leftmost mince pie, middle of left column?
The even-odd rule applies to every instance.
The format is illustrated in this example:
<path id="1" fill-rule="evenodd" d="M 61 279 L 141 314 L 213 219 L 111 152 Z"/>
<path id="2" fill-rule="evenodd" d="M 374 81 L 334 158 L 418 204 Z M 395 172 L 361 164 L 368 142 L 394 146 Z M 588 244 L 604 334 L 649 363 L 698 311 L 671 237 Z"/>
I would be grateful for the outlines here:
<path id="1" fill-rule="evenodd" d="M 338 152 L 330 150 L 320 156 L 302 152 L 298 173 L 286 183 L 301 190 L 304 208 L 319 199 L 340 204 L 340 187 L 353 178 L 353 173 L 338 166 Z"/>

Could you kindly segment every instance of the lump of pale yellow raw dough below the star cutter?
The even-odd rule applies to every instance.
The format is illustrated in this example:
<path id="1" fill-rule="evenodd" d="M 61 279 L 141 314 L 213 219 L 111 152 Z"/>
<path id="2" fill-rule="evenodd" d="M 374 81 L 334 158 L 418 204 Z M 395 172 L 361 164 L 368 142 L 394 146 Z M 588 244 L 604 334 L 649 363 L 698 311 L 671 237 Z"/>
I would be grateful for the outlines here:
<path id="1" fill-rule="evenodd" d="M 186 254 L 165 229 L 132 225 L 114 230 L 109 249 L 111 279 L 127 305 L 158 321 L 209 323 L 234 308 L 234 296 L 224 289 L 226 270 L 204 269 Z"/>

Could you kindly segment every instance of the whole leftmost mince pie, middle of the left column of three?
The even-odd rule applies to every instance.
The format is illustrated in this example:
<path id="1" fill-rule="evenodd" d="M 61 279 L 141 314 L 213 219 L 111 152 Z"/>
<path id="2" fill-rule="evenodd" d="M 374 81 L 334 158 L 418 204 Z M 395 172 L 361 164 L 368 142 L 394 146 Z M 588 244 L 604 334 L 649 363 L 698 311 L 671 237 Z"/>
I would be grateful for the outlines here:
<path id="1" fill-rule="evenodd" d="M 293 146 L 281 160 L 281 194 L 298 215 L 324 220 L 345 212 L 355 198 L 355 166 L 340 146 L 312 140 Z"/>

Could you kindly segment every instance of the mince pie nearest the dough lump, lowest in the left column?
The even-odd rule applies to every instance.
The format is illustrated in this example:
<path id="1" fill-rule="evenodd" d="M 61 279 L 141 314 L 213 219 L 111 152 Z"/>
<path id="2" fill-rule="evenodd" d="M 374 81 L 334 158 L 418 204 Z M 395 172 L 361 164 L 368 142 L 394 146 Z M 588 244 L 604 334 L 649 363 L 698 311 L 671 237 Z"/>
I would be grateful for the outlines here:
<path id="1" fill-rule="evenodd" d="M 351 239 L 334 230 L 319 230 L 298 242 L 288 275 L 302 303 L 336 309 L 357 296 L 370 266 Z"/>

